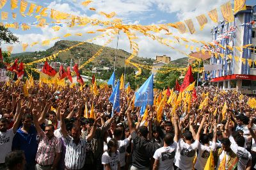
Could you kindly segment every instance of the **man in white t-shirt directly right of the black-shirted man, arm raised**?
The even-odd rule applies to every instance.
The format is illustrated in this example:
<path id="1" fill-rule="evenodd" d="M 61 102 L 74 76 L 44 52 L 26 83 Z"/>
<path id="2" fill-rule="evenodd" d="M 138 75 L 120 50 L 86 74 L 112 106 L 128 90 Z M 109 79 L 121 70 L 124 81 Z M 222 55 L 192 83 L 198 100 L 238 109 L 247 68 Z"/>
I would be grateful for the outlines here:
<path id="1" fill-rule="evenodd" d="M 177 118 L 173 120 L 175 135 L 166 134 L 164 136 L 164 146 L 159 148 L 154 153 L 154 167 L 153 170 L 173 170 L 173 160 L 175 157 L 175 152 L 177 150 L 177 142 L 179 140 L 179 127 L 177 123 Z"/>

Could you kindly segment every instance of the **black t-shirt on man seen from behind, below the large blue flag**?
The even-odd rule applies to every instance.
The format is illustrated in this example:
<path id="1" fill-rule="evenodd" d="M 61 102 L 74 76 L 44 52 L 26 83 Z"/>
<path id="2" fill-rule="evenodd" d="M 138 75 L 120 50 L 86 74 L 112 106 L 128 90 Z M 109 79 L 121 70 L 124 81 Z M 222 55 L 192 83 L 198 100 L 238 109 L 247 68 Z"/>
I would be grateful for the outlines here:
<path id="1" fill-rule="evenodd" d="M 139 137 L 136 132 L 132 132 L 133 154 L 132 166 L 142 169 L 150 167 L 150 158 L 153 157 L 157 146 L 143 137 Z"/>

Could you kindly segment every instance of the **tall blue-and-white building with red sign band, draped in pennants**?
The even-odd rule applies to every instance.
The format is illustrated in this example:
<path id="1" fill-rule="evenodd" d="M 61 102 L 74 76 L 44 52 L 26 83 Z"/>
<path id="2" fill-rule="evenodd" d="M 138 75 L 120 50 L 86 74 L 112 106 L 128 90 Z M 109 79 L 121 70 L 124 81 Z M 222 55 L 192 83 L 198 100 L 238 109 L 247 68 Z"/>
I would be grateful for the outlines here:
<path id="1" fill-rule="evenodd" d="M 211 70 L 209 81 L 223 89 L 237 89 L 241 93 L 256 94 L 256 6 L 234 15 L 234 22 L 219 22 L 212 29 L 211 65 L 222 65 Z M 253 44 L 252 49 L 241 48 Z"/>

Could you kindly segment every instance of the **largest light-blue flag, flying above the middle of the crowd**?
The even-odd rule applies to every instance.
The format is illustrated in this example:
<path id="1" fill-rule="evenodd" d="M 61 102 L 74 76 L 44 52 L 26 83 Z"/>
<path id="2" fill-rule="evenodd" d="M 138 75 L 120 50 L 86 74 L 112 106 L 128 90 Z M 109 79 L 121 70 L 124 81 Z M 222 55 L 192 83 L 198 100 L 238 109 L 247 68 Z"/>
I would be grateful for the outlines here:
<path id="1" fill-rule="evenodd" d="M 147 81 L 135 93 L 134 106 L 142 107 L 154 104 L 154 90 L 153 90 L 153 74 L 148 77 Z"/>

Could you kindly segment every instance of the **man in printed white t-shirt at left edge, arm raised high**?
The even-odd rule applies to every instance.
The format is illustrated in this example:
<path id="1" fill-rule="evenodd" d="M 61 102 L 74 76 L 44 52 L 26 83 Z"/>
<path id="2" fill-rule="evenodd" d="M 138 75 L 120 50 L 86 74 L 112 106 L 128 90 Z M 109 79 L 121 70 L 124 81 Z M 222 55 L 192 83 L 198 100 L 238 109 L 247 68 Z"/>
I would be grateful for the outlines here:
<path id="1" fill-rule="evenodd" d="M 19 122 L 22 117 L 20 113 L 20 100 L 17 101 L 16 114 L 18 114 L 13 127 L 8 129 L 8 120 L 5 118 L 0 119 L 0 169 L 4 169 L 6 166 L 4 164 L 6 155 L 12 151 L 12 141 L 17 129 L 19 127 Z"/>

